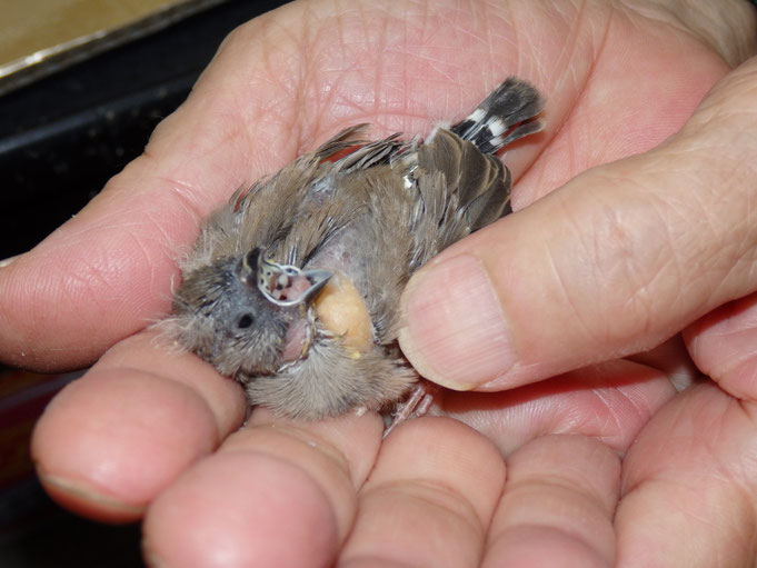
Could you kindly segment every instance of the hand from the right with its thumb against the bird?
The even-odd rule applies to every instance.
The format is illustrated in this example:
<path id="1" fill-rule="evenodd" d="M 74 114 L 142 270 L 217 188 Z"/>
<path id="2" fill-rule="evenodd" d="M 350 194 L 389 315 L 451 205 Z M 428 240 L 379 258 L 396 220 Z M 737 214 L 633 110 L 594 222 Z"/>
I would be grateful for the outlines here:
<path id="1" fill-rule="evenodd" d="M 751 46 L 754 53 L 754 39 Z M 457 243 L 406 290 L 404 352 L 441 385 L 486 392 L 448 396 L 445 410 L 507 440 L 505 451 L 517 456 L 535 432 L 560 430 L 594 435 L 624 451 L 633 437 L 621 441 L 610 432 L 622 437 L 643 427 L 622 461 L 612 507 L 621 566 L 754 562 L 755 89 L 753 58 L 665 143 L 591 169 Z M 544 179 L 531 168 L 517 197 L 530 201 L 549 187 Z M 466 297 L 469 290 L 480 302 Z M 670 337 L 631 360 L 574 370 Z M 678 389 L 698 372 L 713 381 L 677 395 L 649 390 L 645 400 L 630 389 L 651 388 L 653 376 L 641 376 L 650 368 Z M 571 372 L 536 382 L 565 371 Z M 618 398 L 608 398 L 610 385 Z M 491 410 L 506 405 L 528 415 L 525 432 L 517 419 L 491 419 Z M 651 417 L 646 425 L 644 415 Z"/>

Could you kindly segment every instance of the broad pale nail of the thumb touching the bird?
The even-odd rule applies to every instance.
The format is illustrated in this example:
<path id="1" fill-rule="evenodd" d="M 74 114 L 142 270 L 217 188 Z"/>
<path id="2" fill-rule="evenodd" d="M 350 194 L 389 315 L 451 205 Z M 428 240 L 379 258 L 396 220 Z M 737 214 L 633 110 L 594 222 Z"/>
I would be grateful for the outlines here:
<path id="1" fill-rule="evenodd" d="M 471 255 L 427 265 L 410 280 L 402 310 L 402 352 L 434 382 L 470 390 L 515 363 L 497 292 Z"/>

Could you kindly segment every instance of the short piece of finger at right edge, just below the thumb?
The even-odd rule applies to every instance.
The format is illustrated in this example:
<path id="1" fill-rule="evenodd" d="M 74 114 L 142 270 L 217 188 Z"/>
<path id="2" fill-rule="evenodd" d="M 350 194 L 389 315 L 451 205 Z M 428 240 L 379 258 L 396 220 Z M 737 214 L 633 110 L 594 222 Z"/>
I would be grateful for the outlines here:
<path id="1" fill-rule="evenodd" d="M 757 295 L 711 311 L 685 337 L 701 372 L 734 397 L 757 400 Z"/>

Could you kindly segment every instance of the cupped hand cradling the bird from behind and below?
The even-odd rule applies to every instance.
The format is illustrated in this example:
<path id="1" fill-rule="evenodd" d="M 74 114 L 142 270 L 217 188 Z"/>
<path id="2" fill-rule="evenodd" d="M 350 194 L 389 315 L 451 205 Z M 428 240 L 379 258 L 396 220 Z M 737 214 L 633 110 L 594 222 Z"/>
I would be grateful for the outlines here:
<path id="1" fill-rule="evenodd" d="M 46 369 L 82 365 L 141 329 L 168 309 L 176 251 L 191 242 L 199 220 L 241 183 L 343 126 L 371 121 L 378 134 L 425 131 L 429 117 L 467 109 L 505 74 L 530 79 L 546 94 L 551 127 L 537 161 L 539 148 L 530 142 L 507 156 L 516 177 L 528 169 L 516 187 L 517 207 L 539 197 L 537 186 L 546 192 L 591 166 L 654 147 L 678 130 L 727 71 L 696 38 L 606 3 L 586 13 L 548 2 L 475 3 L 452 13 L 438 2 L 405 12 L 373 2 L 338 18 L 330 8 L 285 7 L 238 32 L 188 102 L 156 131 L 145 157 L 72 222 L 2 270 L 3 358 Z M 572 51 L 555 42 L 568 31 Z M 654 66 L 629 69 L 629 60 Z M 538 68 L 530 67 L 535 61 Z M 595 138 L 569 147 L 589 133 Z M 524 222 L 516 219 L 527 211 L 498 227 Z M 525 237 L 544 229 L 538 219 L 531 222 L 504 259 L 517 257 Z M 530 286 L 542 277 L 518 275 Z M 560 320 L 550 329 L 561 329 L 564 339 L 574 331 Z M 544 360 L 564 362 L 547 355 Z M 607 355 L 598 350 L 581 365 L 619 353 Z M 581 387 L 587 375 L 594 381 Z M 53 401 L 33 451 L 48 489 L 74 510 L 124 520 L 149 506 L 146 540 L 159 559 L 153 561 L 165 566 L 317 566 L 337 556 L 345 564 L 380 558 L 460 566 L 485 555 L 485 564 L 515 552 L 565 558 L 570 547 L 607 564 L 619 471 L 608 448 L 622 451 L 673 396 L 666 373 L 619 361 L 492 395 L 489 411 L 471 412 L 469 395 L 450 396 L 448 408 L 458 405 L 452 409 L 462 418 L 475 415 L 496 446 L 446 419 L 411 421 L 380 445 L 375 415 L 296 425 L 262 409 L 228 436 L 243 417 L 240 389 L 192 356 L 160 352 L 141 333 L 120 341 Z M 465 403 L 469 408 L 460 410 Z M 604 444 L 579 437 L 529 441 L 549 432 L 592 435 Z M 644 435 L 636 448 L 643 441 Z M 509 454 L 501 499 L 506 464 L 499 449 Z M 549 477 L 556 465 L 558 484 Z M 545 486 L 556 490 L 550 500 L 537 490 L 514 502 L 519 487 Z M 565 502 L 574 504 L 570 512 L 588 511 L 582 518 L 590 517 L 596 530 L 572 532 L 569 514 L 557 519 Z M 528 522 L 512 522 L 519 510 Z M 405 524 L 426 531 L 405 530 Z M 536 530 L 525 534 L 526 525 Z M 634 526 L 618 525 L 619 557 L 628 564 L 630 551 L 644 546 L 628 536 Z M 435 546 L 431 535 L 447 547 Z M 707 550 L 717 552 L 734 538 L 710 535 Z"/>

